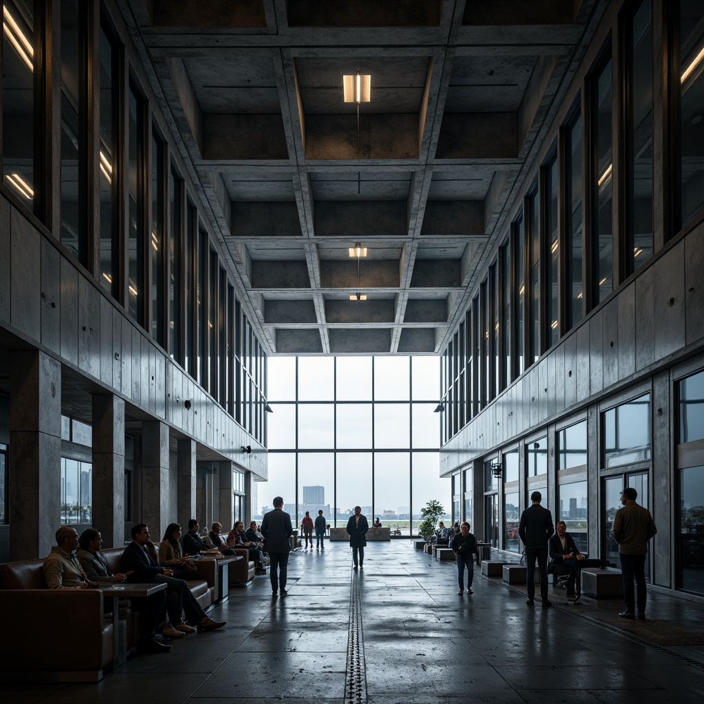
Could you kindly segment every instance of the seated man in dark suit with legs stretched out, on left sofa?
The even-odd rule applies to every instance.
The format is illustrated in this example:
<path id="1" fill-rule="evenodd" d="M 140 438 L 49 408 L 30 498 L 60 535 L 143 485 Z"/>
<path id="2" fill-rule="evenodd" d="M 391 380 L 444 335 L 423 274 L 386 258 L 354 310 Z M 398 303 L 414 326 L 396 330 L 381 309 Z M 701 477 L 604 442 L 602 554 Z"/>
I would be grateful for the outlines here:
<path id="1" fill-rule="evenodd" d="M 144 523 L 132 526 L 132 542 L 122 553 L 123 570 L 131 570 L 127 582 L 165 582 L 166 611 L 175 631 L 192 633 L 195 629 L 184 623 L 182 612 L 187 619 L 198 625 L 199 631 L 213 631 L 225 625 L 225 621 L 213 621 L 206 616 L 201 605 L 196 601 L 183 579 L 175 579 L 173 570 L 159 567 L 146 549 L 149 539 L 149 527 Z M 167 633 L 166 635 L 169 635 Z M 175 634 L 173 634 L 175 635 Z"/>

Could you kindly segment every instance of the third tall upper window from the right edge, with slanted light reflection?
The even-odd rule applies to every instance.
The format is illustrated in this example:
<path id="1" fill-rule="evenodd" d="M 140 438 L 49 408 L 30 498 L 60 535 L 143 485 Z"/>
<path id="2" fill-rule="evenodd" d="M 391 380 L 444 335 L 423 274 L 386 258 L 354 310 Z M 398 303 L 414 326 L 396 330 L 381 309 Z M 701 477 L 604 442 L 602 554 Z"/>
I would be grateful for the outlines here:
<path id="1" fill-rule="evenodd" d="M 613 289 L 611 58 L 603 61 L 591 81 L 592 268 L 593 303 Z"/>

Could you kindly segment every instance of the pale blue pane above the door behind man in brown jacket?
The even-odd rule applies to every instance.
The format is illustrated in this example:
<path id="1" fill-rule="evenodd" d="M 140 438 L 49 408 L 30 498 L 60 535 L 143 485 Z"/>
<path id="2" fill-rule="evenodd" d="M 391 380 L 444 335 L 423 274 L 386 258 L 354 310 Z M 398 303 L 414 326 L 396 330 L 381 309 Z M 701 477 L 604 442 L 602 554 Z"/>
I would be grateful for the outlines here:
<path id="1" fill-rule="evenodd" d="M 650 394 L 604 413 L 604 460 L 617 467 L 650 459 Z"/>

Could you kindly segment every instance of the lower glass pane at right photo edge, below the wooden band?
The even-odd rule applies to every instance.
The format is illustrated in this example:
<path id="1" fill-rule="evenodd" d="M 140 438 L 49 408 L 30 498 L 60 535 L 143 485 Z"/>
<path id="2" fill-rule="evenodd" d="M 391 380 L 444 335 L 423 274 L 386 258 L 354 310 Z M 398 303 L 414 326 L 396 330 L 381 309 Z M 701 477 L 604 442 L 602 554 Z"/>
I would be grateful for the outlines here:
<path id="1" fill-rule="evenodd" d="M 704 466 L 679 472 L 680 586 L 704 593 Z"/>

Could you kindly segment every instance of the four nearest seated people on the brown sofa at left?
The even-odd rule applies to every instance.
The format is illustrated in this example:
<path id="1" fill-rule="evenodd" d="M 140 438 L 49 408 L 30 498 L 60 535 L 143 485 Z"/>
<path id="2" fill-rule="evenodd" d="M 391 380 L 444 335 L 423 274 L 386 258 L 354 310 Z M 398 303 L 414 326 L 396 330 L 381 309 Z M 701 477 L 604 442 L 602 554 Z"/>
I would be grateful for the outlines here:
<path id="1" fill-rule="evenodd" d="M 100 552 L 103 539 L 98 530 L 88 528 L 79 536 L 75 528 L 61 526 L 56 531 L 56 546 L 44 560 L 44 579 L 49 589 L 91 589 L 100 582 L 164 582 L 164 591 L 133 601 L 142 612 L 139 650 L 168 652 L 171 646 L 163 643 L 164 637 L 182 637 L 196 629 L 213 631 L 226 623 L 208 617 L 184 582 L 191 565 L 188 554 L 182 553 L 180 532 L 178 524 L 170 524 L 159 544 L 157 560 L 149 527 L 135 524 L 132 542 L 122 553 L 122 572 L 111 574 Z M 157 634 L 161 624 L 161 634 Z"/>

